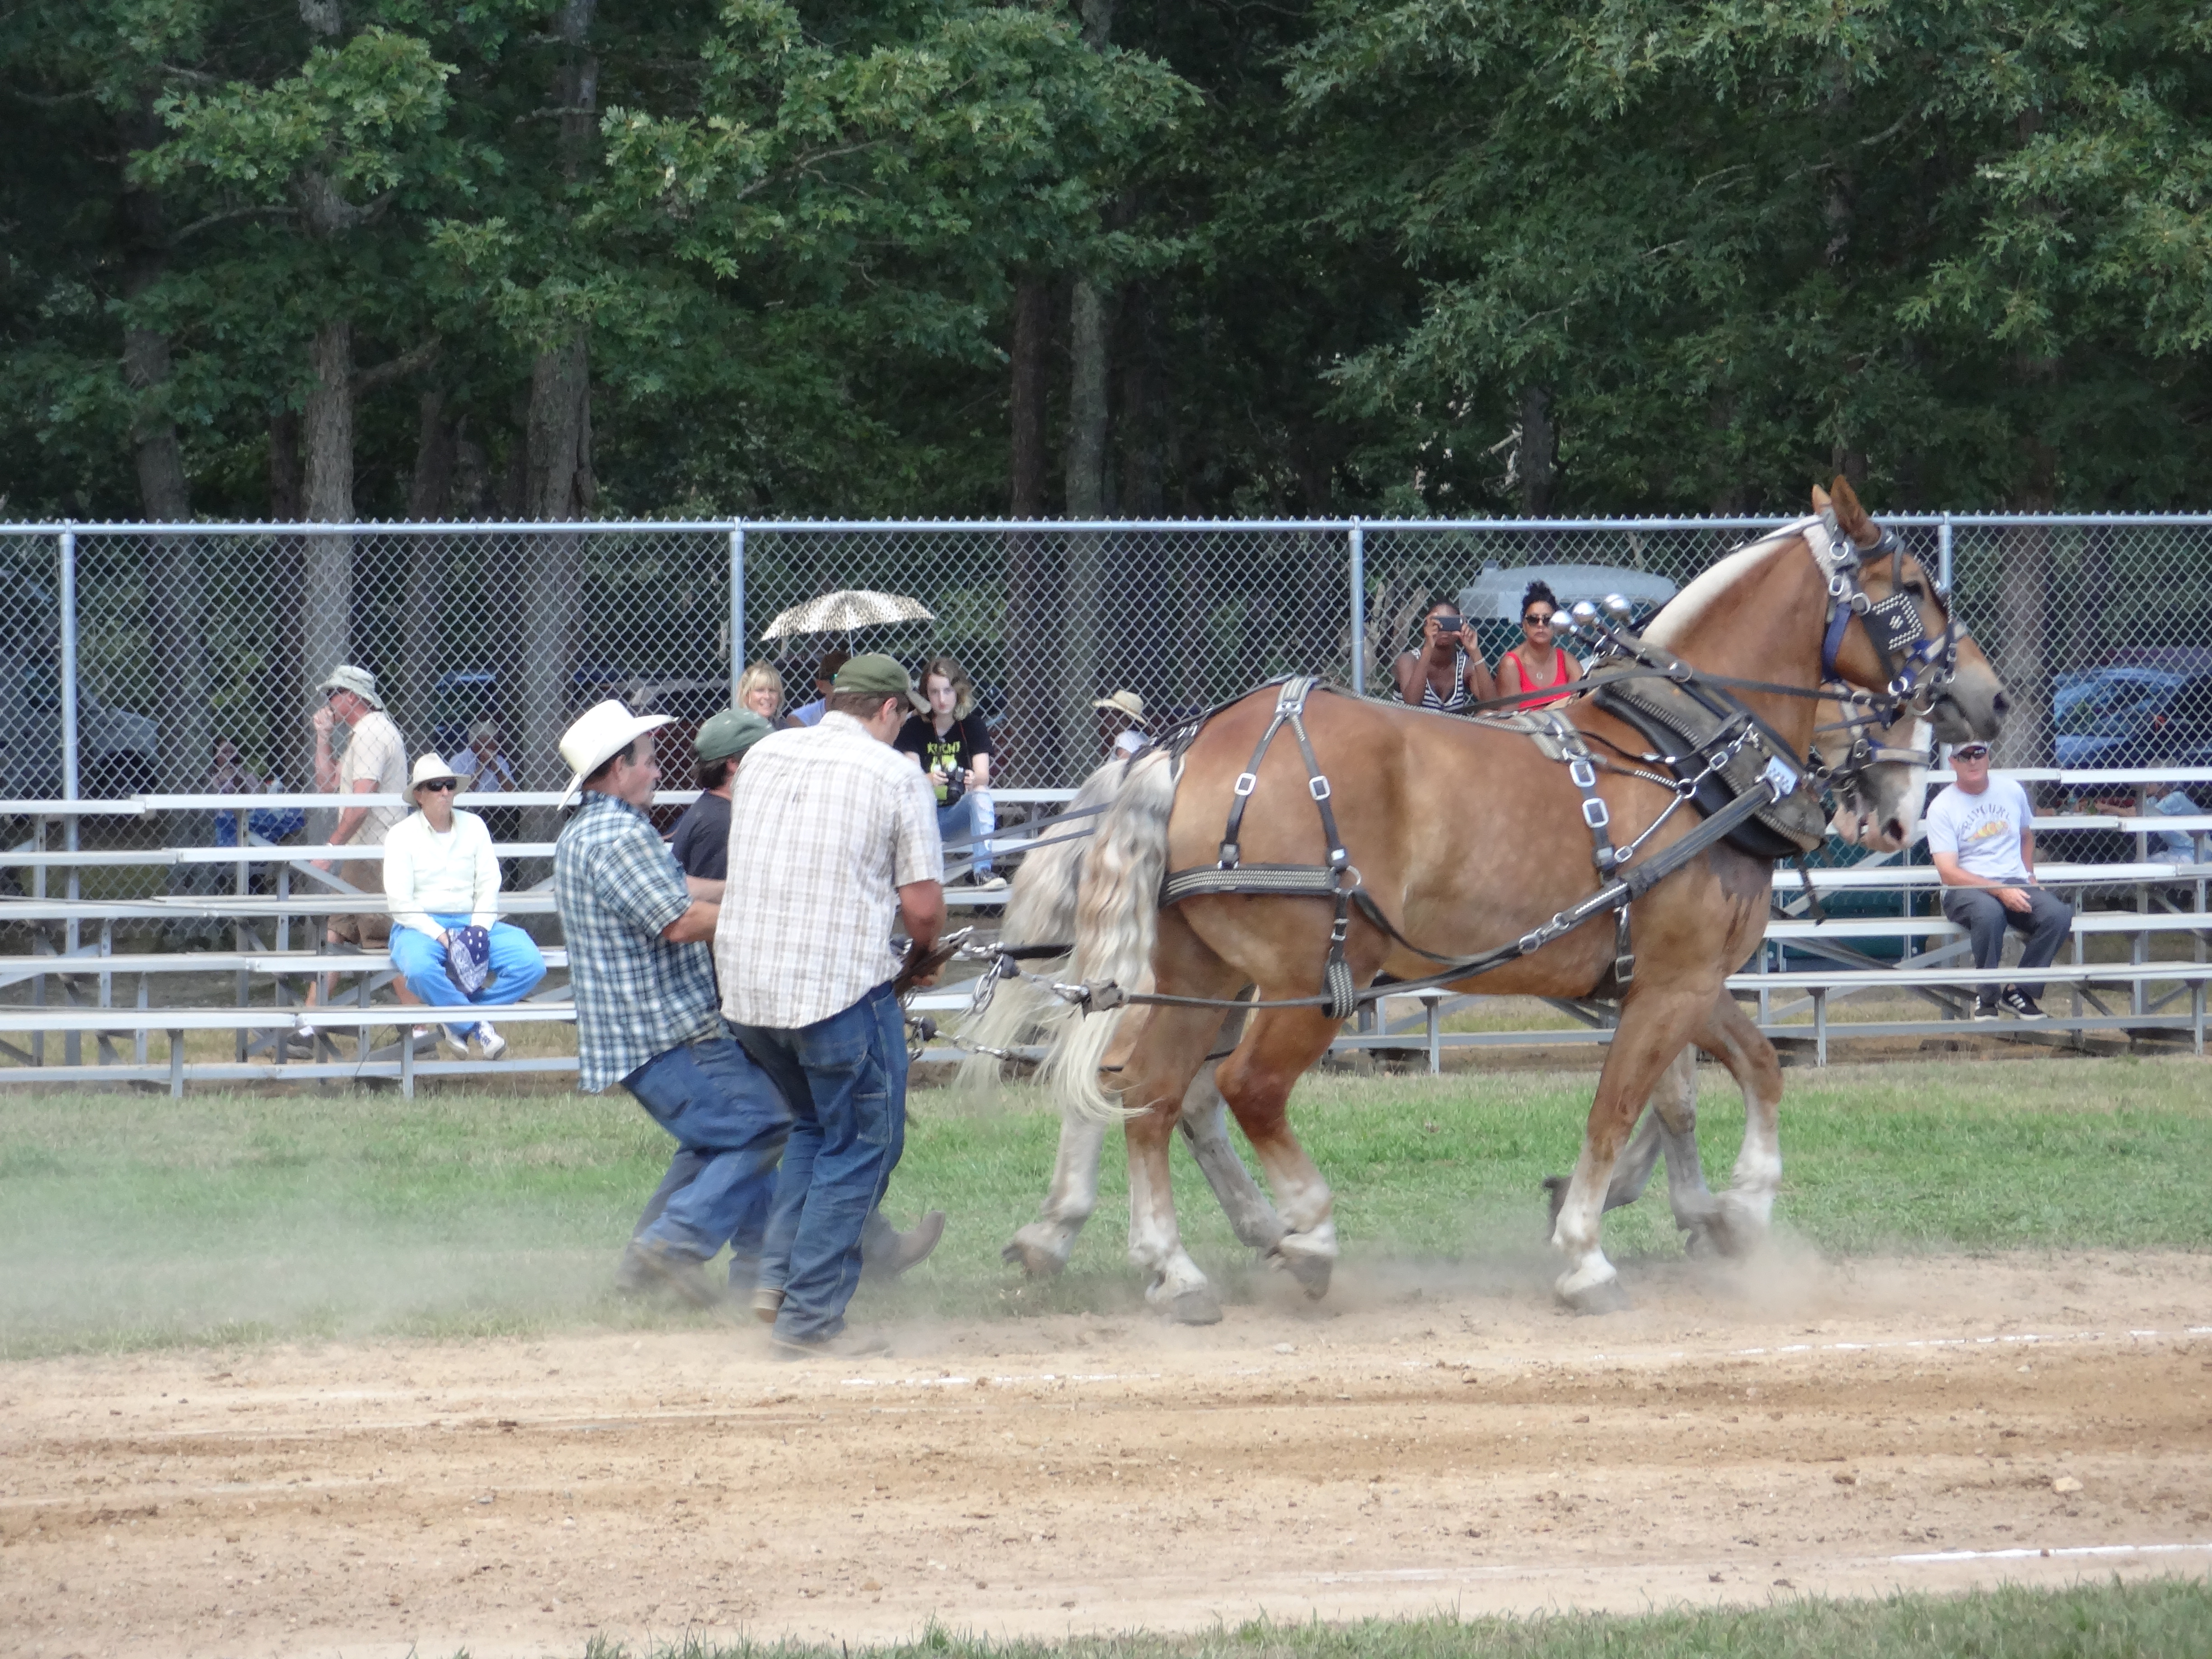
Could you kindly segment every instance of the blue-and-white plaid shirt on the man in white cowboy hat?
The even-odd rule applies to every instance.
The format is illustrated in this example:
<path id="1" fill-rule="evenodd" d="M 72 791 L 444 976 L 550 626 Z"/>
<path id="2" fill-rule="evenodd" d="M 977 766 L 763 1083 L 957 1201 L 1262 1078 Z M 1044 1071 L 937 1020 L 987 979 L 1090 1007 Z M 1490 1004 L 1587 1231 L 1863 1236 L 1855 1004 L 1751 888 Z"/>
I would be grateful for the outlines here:
<path id="1" fill-rule="evenodd" d="M 595 1095 L 653 1055 L 721 1033 L 712 951 L 661 938 L 692 900 L 644 812 L 586 790 L 553 845 L 553 902 L 568 936 L 577 1088 Z"/>

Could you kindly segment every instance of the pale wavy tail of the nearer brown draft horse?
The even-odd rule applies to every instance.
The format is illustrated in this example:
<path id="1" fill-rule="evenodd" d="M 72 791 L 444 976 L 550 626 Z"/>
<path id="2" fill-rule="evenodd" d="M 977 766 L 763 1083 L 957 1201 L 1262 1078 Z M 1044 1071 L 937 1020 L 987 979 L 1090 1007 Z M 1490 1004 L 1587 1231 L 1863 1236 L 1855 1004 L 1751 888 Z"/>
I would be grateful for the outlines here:
<path id="1" fill-rule="evenodd" d="M 1175 761 L 1141 754 L 1099 823 L 1084 858 L 1075 902 L 1075 980 L 1150 984 L 1152 945 L 1159 938 L 1159 883 L 1168 872 L 1168 814 L 1175 812 Z M 1088 1119 L 1121 1117 L 1121 1104 L 1099 1086 L 1099 1062 L 1113 1044 L 1124 1009 L 1091 1013 L 1060 1029 L 1046 1075 L 1064 1113 Z"/>

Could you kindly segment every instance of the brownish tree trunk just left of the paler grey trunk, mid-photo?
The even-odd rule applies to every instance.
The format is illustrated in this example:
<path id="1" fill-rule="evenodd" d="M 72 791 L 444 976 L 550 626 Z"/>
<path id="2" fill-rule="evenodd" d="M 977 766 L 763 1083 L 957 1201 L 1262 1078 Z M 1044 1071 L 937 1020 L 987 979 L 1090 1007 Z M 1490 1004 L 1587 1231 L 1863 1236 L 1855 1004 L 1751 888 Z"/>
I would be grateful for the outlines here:
<path id="1" fill-rule="evenodd" d="M 1011 513 L 1046 513 L 1046 400 L 1053 294 L 1024 281 L 1013 292 L 1013 473 Z M 1060 571 L 1055 546 L 1035 531 L 1006 538 L 1006 730 L 998 734 L 1006 783 L 1035 787 L 1057 772 L 1060 726 Z"/>

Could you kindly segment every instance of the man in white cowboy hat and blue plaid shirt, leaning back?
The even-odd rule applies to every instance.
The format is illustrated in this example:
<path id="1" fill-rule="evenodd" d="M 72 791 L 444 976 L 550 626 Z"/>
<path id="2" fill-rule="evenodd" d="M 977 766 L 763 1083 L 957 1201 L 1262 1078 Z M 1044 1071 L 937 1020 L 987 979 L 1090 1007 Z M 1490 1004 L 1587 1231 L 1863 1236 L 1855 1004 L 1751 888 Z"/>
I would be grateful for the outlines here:
<path id="1" fill-rule="evenodd" d="M 619 1082 L 701 1157 L 697 1179 L 630 1241 L 622 1276 L 714 1307 L 721 1294 L 699 1265 L 723 1241 L 741 1254 L 759 1248 L 741 1223 L 765 1208 L 790 1108 L 723 1031 L 706 947 L 719 911 L 692 894 L 646 816 L 661 776 L 653 732 L 666 723 L 606 701 L 562 734 L 568 792 L 584 801 L 553 845 L 553 898 L 568 938 L 577 1086 Z"/>

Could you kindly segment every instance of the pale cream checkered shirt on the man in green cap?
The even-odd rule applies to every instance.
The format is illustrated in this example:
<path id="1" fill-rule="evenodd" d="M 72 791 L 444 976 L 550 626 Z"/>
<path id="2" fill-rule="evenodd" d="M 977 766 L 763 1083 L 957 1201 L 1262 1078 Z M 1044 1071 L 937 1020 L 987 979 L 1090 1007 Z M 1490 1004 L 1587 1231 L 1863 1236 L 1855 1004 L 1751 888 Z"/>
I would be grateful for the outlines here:
<path id="1" fill-rule="evenodd" d="M 898 889 L 945 880 L 929 781 L 852 714 L 772 732 L 730 796 L 714 964 L 739 1024 L 810 1026 L 898 973 Z"/>

